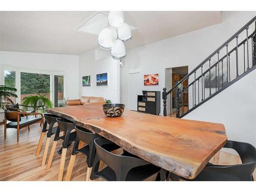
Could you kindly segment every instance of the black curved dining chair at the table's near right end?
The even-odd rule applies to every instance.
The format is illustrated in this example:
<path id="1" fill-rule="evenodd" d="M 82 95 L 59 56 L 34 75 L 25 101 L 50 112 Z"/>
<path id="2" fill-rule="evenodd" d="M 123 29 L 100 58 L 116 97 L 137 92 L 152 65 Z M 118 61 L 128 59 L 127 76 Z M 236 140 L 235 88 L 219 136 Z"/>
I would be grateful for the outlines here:
<path id="1" fill-rule="evenodd" d="M 256 167 L 256 148 L 244 142 L 227 141 L 225 148 L 232 148 L 239 154 L 242 164 L 215 165 L 208 163 L 202 172 L 192 181 L 253 181 Z M 170 174 L 171 180 L 186 180 Z M 190 180 L 189 180 L 190 181 Z"/>

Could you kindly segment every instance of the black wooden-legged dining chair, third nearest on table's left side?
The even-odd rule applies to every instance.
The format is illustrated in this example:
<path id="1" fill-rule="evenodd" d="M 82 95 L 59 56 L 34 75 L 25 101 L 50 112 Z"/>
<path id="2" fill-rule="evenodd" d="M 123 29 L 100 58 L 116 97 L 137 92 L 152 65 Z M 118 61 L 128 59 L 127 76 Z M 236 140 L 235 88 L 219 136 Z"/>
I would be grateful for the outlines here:
<path id="1" fill-rule="evenodd" d="M 59 173 L 58 173 L 58 181 L 62 181 L 64 166 L 65 166 L 65 160 L 67 155 L 67 148 L 68 146 L 75 141 L 76 138 L 76 132 L 72 132 L 75 130 L 75 124 L 72 121 L 69 121 L 67 119 L 57 118 L 58 127 L 56 130 L 56 134 L 54 137 L 51 153 L 49 156 L 49 160 L 46 166 L 46 169 L 49 169 L 52 165 L 52 160 L 55 152 L 55 148 L 57 145 L 58 140 L 63 140 L 62 142 L 62 153 L 60 158 L 60 165 L 59 165 Z M 63 131 L 65 133 L 62 136 L 59 136 L 60 131 Z"/>

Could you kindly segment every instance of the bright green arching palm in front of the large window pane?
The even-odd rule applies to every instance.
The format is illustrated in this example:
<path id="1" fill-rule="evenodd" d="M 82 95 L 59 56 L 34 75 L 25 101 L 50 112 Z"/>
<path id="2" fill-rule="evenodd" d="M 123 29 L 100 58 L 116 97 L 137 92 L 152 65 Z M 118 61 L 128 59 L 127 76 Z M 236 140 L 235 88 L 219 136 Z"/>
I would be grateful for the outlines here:
<path id="1" fill-rule="evenodd" d="M 42 111 L 44 112 L 45 109 L 52 108 L 52 101 L 46 97 L 45 95 L 40 95 L 37 93 L 37 95 L 31 95 L 28 97 L 25 97 L 23 100 L 24 105 L 31 105 L 34 110 L 38 110 L 38 108 L 42 108 Z"/>

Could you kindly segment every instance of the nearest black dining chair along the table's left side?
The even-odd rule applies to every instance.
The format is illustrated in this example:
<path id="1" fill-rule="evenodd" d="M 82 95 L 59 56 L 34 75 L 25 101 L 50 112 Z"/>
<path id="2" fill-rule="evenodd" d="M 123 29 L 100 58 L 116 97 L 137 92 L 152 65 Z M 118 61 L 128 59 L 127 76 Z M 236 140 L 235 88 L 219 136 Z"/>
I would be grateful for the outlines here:
<path id="1" fill-rule="evenodd" d="M 96 155 L 93 163 L 91 180 L 103 178 L 107 181 L 143 181 L 155 174 L 160 173 L 160 167 L 138 158 L 126 151 L 122 155 L 116 155 L 108 151 L 104 145 L 111 141 L 98 138 L 94 140 Z M 106 164 L 99 170 L 99 162 Z"/>

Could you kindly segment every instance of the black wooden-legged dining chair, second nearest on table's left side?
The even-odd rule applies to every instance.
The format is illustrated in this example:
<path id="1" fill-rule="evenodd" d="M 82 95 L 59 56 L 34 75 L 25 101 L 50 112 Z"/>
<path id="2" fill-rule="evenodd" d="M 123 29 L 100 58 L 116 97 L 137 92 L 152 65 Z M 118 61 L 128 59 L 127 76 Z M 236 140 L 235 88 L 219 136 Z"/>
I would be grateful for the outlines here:
<path id="1" fill-rule="evenodd" d="M 83 127 L 75 126 L 76 129 L 76 139 L 73 147 L 73 151 L 71 154 L 71 158 L 69 161 L 69 166 L 67 170 L 67 175 L 66 175 L 66 181 L 70 181 L 72 170 L 74 167 L 74 162 L 76 155 L 78 153 L 85 154 L 87 156 L 86 162 L 87 162 L 87 175 L 86 175 L 86 181 L 89 181 L 90 175 L 91 175 L 91 170 L 93 166 L 93 161 L 95 157 L 95 144 L 94 140 L 97 138 L 100 138 L 101 136 L 98 134 L 95 134 L 87 129 L 84 129 Z M 83 142 L 86 145 L 78 148 L 79 147 L 79 142 Z M 104 147 L 108 148 L 109 151 L 114 151 L 120 148 L 120 146 L 116 145 L 115 143 L 110 143 L 108 145 L 105 145 Z"/>

